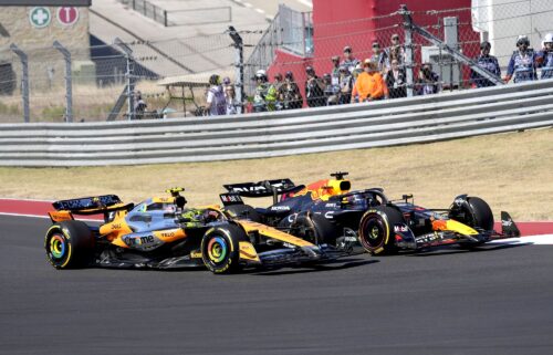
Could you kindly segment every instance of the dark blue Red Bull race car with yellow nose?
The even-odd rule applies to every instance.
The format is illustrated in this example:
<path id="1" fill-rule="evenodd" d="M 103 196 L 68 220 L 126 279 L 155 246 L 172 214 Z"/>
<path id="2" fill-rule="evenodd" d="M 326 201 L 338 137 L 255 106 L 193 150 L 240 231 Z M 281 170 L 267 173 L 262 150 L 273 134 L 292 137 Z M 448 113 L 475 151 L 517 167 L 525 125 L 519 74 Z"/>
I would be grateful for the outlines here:
<path id="1" fill-rule="evenodd" d="M 420 251 L 457 244 L 474 248 L 488 241 L 519 237 L 507 212 L 501 212 L 502 231 L 493 230 L 493 213 L 479 197 L 459 195 L 449 208 L 430 209 L 414 203 L 413 195 L 389 199 L 382 188 L 351 191 L 347 173 L 336 173 L 307 186 L 290 179 L 225 185 L 232 202 L 226 209 L 291 232 L 317 244 L 352 250 L 361 244 L 372 254 Z M 273 205 L 253 208 L 240 197 L 273 196 Z M 227 197 L 229 199 L 230 197 Z"/>

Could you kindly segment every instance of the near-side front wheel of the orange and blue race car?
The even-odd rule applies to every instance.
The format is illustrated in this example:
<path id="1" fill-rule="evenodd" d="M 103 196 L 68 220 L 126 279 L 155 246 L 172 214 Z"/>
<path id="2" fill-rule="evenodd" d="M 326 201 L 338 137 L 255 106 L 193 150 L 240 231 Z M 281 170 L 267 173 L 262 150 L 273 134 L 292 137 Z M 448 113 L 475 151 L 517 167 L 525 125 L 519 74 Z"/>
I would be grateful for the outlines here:
<path id="1" fill-rule="evenodd" d="M 248 236 L 239 226 L 218 226 L 208 230 L 201 239 L 201 259 L 215 274 L 240 271 L 240 241 Z"/>

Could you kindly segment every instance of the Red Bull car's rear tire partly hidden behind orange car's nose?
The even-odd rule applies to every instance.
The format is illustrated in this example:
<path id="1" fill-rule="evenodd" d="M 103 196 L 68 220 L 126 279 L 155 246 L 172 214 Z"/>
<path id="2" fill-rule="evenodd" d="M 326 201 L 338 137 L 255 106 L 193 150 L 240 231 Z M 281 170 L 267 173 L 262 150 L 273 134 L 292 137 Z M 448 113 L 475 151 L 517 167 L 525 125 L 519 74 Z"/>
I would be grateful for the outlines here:
<path id="1" fill-rule="evenodd" d="M 301 215 L 290 226 L 290 234 L 306 240 L 315 246 L 336 244 L 338 230 L 321 215 Z"/>

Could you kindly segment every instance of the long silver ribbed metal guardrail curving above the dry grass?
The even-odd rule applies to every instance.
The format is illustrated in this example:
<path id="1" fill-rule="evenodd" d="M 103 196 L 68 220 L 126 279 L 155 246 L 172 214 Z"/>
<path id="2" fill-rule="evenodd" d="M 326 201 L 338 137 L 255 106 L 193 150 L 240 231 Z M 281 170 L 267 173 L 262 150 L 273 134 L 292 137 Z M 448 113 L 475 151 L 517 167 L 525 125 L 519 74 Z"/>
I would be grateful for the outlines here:
<path id="1" fill-rule="evenodd" d="M 553 126 L 553 80 L 264 114 L 0 125 L 0 166 L 263 158 Z"/>

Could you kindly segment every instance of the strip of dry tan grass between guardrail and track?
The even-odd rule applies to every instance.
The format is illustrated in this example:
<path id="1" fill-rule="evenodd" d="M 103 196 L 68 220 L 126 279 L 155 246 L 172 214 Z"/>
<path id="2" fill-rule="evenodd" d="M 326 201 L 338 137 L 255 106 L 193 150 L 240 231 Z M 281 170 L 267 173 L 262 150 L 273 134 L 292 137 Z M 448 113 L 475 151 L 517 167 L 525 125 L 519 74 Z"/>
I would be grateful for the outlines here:
<path id="1" fill-rule="evenodd" d="M 415 194 L 426 207 L 448 207 L 459 194 L 480 196 L 499 215 L 552 220 L 553 128 L 442 143 L 269 159 L 91 168 L 0 168 L 0 196 L 62 199 L 117 194 L 127 201 L 184 186 L 191 205 L 218 201 L 222 184 L 290 177 L 296 184 L 349 171 L 353 187 Z M 254 201 L 262 206 L 268 200 Z M 498 216 L 497 216 L 498 218 Z"/>

